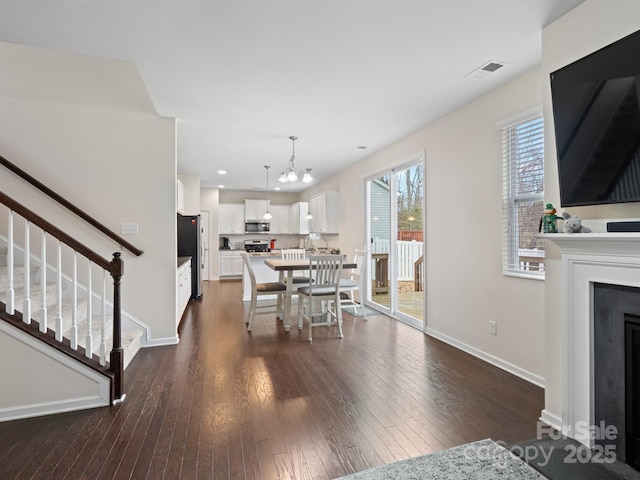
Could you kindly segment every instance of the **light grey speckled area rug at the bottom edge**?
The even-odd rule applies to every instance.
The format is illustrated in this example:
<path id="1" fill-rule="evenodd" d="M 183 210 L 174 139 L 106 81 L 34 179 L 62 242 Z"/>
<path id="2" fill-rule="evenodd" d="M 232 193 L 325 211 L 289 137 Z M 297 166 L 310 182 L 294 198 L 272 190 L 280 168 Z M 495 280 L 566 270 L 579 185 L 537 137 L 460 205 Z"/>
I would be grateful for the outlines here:
<path id="1" fill-rule="evenodd" d="M 491 439 L 409 458 L 339 480 L 546 480 Z"/>

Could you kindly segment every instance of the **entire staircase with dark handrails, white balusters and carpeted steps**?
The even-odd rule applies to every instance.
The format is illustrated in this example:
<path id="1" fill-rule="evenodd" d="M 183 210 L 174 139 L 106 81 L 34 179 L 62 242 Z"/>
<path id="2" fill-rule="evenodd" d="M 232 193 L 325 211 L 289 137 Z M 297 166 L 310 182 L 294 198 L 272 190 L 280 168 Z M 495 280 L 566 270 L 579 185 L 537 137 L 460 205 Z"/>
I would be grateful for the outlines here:
<path id="1" fill-rule="evenodd" d="M 0 191 L 1 353 L 23 367 L 0 371 L 3 388 L 14 389 L 0 395 L 0 420 L 121 403 L 124 369 L 148 337 L 146 326 L 123 318 L 122 249 L 144 252 L 2 156 L 0 165 L 121 250 L 105 258 Z"/>

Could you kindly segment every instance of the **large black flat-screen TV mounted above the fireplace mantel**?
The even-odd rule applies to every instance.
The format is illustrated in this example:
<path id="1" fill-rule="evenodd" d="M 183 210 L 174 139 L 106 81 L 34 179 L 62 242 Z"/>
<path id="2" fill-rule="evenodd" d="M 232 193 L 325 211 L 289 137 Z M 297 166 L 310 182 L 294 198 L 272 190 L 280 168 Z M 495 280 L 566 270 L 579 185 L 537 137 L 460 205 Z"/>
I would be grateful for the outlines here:
<path id="1" fill-rule="evenodd" d="M 640 202 L 640 30 L 551 73 L 563 207 Z"/>

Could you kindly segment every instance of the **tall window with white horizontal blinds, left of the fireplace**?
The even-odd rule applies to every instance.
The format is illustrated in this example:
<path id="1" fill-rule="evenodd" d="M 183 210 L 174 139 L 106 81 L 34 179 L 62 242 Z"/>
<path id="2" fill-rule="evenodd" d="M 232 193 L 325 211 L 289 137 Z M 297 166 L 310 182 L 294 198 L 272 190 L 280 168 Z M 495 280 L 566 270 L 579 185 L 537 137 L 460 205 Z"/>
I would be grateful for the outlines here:
<path id="1" fill-rule="evenodd" d="M 513 122 L 502 132 L 502 271 L 544 278 L 544 243 L 536 238 L 544 210 L 542 116 Z"/>

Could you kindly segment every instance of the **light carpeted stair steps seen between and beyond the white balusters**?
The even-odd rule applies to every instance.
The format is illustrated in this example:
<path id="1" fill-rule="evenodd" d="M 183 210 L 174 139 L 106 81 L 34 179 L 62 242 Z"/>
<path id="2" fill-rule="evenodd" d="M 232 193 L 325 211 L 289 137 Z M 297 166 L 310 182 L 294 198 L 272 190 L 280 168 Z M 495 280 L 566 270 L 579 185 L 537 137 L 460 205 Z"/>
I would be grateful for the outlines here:
<path id="1" fill-rule="evenodd" d="M 35 265 L 34 265 L 35 264 Z M 24 266 L 14 265 L 13 268 L 13 289 L 15 295 L 15 310 L 22 312 L 24 304 L 25 294 L 25 271 Z M 50 268 L 50 267 L 49 267 Z M 42 283 L 41 283 L 41 267 L 38 262 L 32 259 L 32 265 L 29 271 L 29 297 L 31 299 L 31 311 L 32 319 L 34 321 L 41 321 L 42 318 Z M 49 278 L 51 275 L 47 275 Z M 49 329 L 56 329 L 56 318 L 61 316 L 62 329 L 59 334 L 60 337 L 64 337 L 70 344 L 74 342 L 73 330 L 76 331 L 75 338 L 77 338 L 77 345 L 87 351 L 87 340 L 90 343 L 89 352 L 94 352 L 98 358 L 99 363 L 104 366 L 106 359 L 108 359 L 109 352 L 113 345 L 113 315 L 110 313 L 110 309 L 107 308 L 104 318 L 101 312 L 100 302 L 97 301 L 95 293 L 92 294 L 92 309 L 91 309 L 91 335 L 87 336 L 88 319 L 87 312 L 89 310 L 89 302 L 87 299 L 86 291 L 84 287 L 78 293 L 78 298 L 75 302 L 75 318 L 76 325 L 74 329 L 74 300 L 70 295 L 70 290 L 73 289 L 73 285 L 69 279 L 63 280 L 64 284 L 62 290 L 64 295 L 62 296 L 62 302 L 60 306 L 57 305 L 57 284 L 47 282 L 45 286 L 45 304 L 46 304 L 46 317 Z M 0 299 L 6 299 L 6 292 L 9 287 L 8 271 L 7 271 L 7 247 L 0 246 Z M 79 289 L 80 290 L 80 289 Z M 69 297 L 69 298 L 66 298 Z M 5 301 L 6 304 L 6 301 Z M 104 320 L 104 326 L 103 326 Z M 104 331 L 105 335 L 102 335 Z M 131 360 L 135 357 L 138 350 L 141 348 L 141 342 L 144 332 L 141 329 L 122 330 L 122 348 L 124 350 L 124 368 L 126 368 Z"/>

